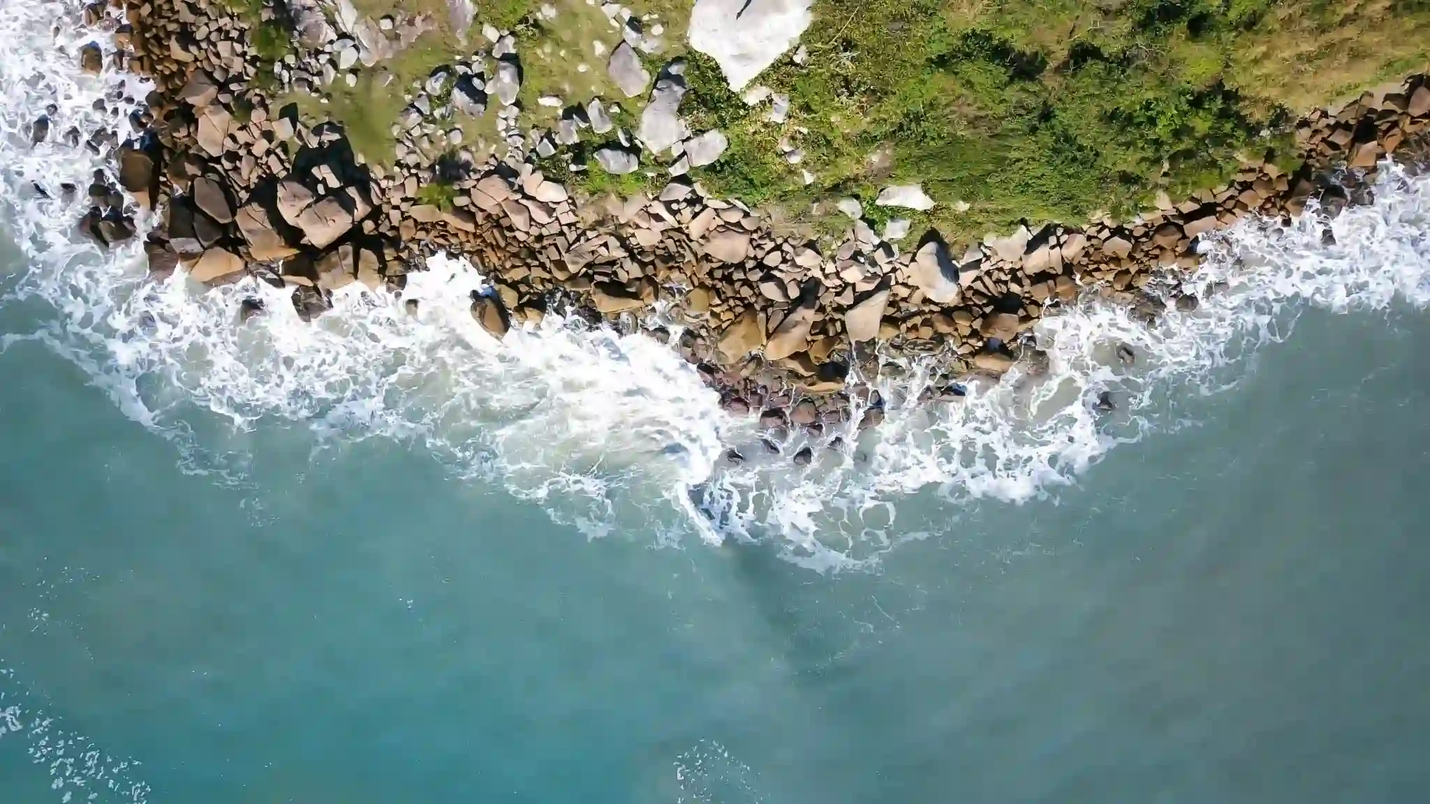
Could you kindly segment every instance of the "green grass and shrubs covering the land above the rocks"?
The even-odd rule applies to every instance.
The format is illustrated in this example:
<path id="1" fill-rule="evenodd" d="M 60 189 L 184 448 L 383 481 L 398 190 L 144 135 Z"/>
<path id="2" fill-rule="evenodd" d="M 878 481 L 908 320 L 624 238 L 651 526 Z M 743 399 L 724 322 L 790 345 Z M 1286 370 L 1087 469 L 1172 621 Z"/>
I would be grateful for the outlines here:
<path id="1" fill-rule="evenodd" d="M 262 9 L 260 0 L 229 1 L 253 19 Z M 555 124 L 559 110 L 539 106 L 542 94 L 566 104 L 601 96 L 622 106 L 616 124 L 633 129 L 645 99 L 619 97 L 605 69 L 619 26 L 599 4 L 546 1 L 553 19 L 541 13 L 542 0 L 482 3 L 463 43 L 445 0 L 356 0 L 375 17 L 428 13 L 438 30 L 365 70 L 356 87 L 329 87 L 329 103 L 309 97 L 300 106 L 345 123 L 358 152 L 388 162 L 402 93 L 433 67 L 485 47 L 479 31 L 490 23 L 519 40 L 523 124 Z M 691 0 L 628 7 L 656 14 L 665 29 L 666 49 L 646 57 L 654 76 L 684 52 Z M 265 27 L 253 37 L 265 57 L 290 46 Z M 854 196 L 875 225 L 907 216 L 915 236 L 937 226 L 968 240 L 1020 219 L 1127 217 L 1158 192 L 1180 197 L 1223 183 L 1243 159 L 1293 167 L 1287 124 L 1300 113 L 1426 67 L 1430 1 L 815 0 L 801 41 L 805 64 L 786 54 L 758 79 L 791 97 L 784 124 L 765 119 L 768 104 L 746 106 L 709 59 L 685 53 L 691 92 L 682 114 L 696 132 L 719 127 L 729 137 L 724 157 L 692 177 L 818 230 L 842 230 L 848 220 L 811 210 Z M 468 147 L 496 143 L 495 107 L 462 123 Z M 782 140 L 805 153 L 799 165 L 785 160 Z M 599 144 L 573 150 L 589 156 Z M 562 155 L 543 160 L 543 170 L 592 195 L 668 180 L 664 159 L 649 155 L 626 176 L 605 175 L 593 160 L 572 172 Z M 802 170 L 817 180 L 805 185 Z M 895 182 L 921 183 L 938 206 L 874 206 Z"/>

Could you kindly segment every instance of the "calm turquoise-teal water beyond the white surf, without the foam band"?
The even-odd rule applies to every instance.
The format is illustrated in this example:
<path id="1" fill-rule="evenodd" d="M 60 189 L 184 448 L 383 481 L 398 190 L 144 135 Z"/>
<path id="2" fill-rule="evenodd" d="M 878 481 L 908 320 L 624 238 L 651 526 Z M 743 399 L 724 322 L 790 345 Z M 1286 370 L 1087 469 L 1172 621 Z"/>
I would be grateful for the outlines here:
<path id="1" fill-rule="evenodd" d="M 1308 312 L 1197 426 L 839 575 L 196 415 L 226 486 L 14 343 L 4 800 L 90 790 L 37 718 L 142 763 L 112 801 L 1419 800 L 1427 336 Z"/>

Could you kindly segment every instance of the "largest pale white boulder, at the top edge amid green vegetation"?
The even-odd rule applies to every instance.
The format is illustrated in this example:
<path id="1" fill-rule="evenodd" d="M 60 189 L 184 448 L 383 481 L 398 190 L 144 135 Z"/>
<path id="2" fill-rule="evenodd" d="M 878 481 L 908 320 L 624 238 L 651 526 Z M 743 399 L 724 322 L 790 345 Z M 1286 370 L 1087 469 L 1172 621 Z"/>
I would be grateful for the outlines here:
<path id="1" fill-rule="evenodd" d="M 695 0 L 691 47 L 719 64 L 741 90 L 809 27 L 812 0 Z"/>

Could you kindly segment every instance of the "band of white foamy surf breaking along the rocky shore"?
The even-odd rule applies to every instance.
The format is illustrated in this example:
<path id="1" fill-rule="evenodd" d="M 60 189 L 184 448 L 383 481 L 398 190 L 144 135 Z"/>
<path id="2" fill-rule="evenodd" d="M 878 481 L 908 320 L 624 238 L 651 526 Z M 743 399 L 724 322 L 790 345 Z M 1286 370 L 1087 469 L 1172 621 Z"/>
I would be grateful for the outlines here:
<path id="1" fill-rule="evenodd" d="M 1306 303 L 1348 310 L 1397 298 L 1430 302 L 1430 180 L 1387 167 L 1377 203 L 1334 222 L 1341 245 L 1321 246 L 1310 217 L 1276 232 L 1243 225 L 1187 282 L 1224 283 L 1198 310 L 1171 310 L 1145 328 L 1128 310 L 1088 299 L 1038 325 L 1044 375 L 1018 369 L 954 403 L 914 405 L 930 368 L 907 363 L 908 376 L 875 382 L 887 401 L 882 428 L 828 432 L 825 439 L 841 435 L 849 446 L 819 449 L 814 465 L 799 468 L 788 456 L 804 436 L 768 455 L 751 422 L 721 412 L 695 371 L 645 336 L 552 316 L 496 343 L 468 313 L 468 293 L 482 278 L 462 260 L 436 259 L 410 278 L 405 298 L 419 299 L 416 318 L 386 293 L 346 289 L 337 309 L 312 325 L 297 319 L 285 292 L 265 285 L 147 282 L 137 245 L 102 253 L 74 236 L 79 207 L 24 189 L 37 179 L 50 187 L 87 183 L 96 165 L 87 153 L 53 137 L 31 150 L 17 132 L 51 100 L 60 104 L 56 134 L 69 124 L 87 132 L 97 122 L 92 102 L 117 76 L 80 76 L 57 53 L 49 31 L 59 4 L 0 1 L 0 24 L 16 31 L 0 57 L 0 216 L 29 260 L 0 303 L 7 318 L 33 309 L 39 319 L 0 336 L 0 348 L 17 338 L 47 343 L 126 415 L 173 441 L 184 468 L 226 482 L 242 482 L 246 461 L 204 443 L 190 426 L 196 412 L 212 411 L 240 431 L 299 422 L 325 443 L 420 445 L 453 472 L 499 481 L 592 538 L 621 529 L 662 544 L 774 539 L 811 568 L 865 567 L 932 528 L 899 519 L 898 502 L 911 494 L 937 491 L 954 504 L 1028 501 L 1075 482 L 1121 442 L 1180 426 L 1181 399 L 1234 383 L 1241 362 L 1284 339 Z M 87 39 L 63 33 L 57 43 L 74 53 Z M 250 295 L 267 312 L 240 325 L 237 305 Z M 1117 343 L 1134 348 L 1135 368 L 1118 363 Z M 1101 391 L 1118 396 L 1120 413 L 1093 409 Z M 726 446 L 749 461 L 724 465 Z"/>

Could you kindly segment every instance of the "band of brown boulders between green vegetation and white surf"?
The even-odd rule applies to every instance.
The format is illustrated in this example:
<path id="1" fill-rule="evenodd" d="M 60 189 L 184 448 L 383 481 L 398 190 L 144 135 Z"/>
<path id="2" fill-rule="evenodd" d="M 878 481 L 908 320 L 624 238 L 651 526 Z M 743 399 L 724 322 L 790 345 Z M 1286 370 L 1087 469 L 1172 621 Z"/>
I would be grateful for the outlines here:
<path id="1" fill-rule="evenodd" d="M 1297 216 L 1310 199 L 1328 215 L 1366 202 L 1377 163 L 1416 157 L 1430 126 L 1430 86 L 1417 74 L 1296 123 L 1304 163 L 1294 172 L 1251 159 L 1231 183 L 1175 203 L 1158 199 L 1135 220 L 1022 226 L 964 247 L 930 230 L 904 247 L 908 233 L 875 232 L 855 202 L 841 206 L 851 219 L 844 237 L 818 242 L 781 236 L 756 210 L 682 176 L 682 159 L 718 159 L 719 132 L 668 137 L 682 155 L 655 197 L 589 199 L 546 179 L 538 165 L 558 147 L 601 136 L 622 144 L 598 149 L 599 166 L 586 169 L 618 172 L 635 136 L 612 132 L 599 100 L 571 110 L 556 132 L 522 130 L 512 86 L 521 56 L 502 31 L 492 31 L 490 49 L 433 70 L 420 86 L 395 86 L 409 100 L 393 122 L 396 163 L 368 163 L 339 124 L 303 119 L 287 102 L 287 92 L 345 80 L 359 57 L 358 41 L 325 30 L 310 11 L 263 7 L 266 23 L 305 43 L 275 69 L 255 47 L 252 23 L 213 0 L 86 7 L 86 23 L 113 36 L 80 49 L 80 66 L 99 73 L 109 64 L 156 89 L 112 99 L 116 107 L 137 102 L 129 126 L 142 133 L 124 142 L 114 130 L 59 133 L 46 117 L 33 123 L 36 143 L 64 137 L 113 153 L 113 175 L 100 172 L 89 189 L 83 229 L 117 243 L 134 236 L 136 207 L 154 210 L 162 223 L 144 245 L 152 273 L 183 265 L 206 283 L 255 276 L 290 288 L 305 319 L 347 285 L 400 293 L 428 256 L 466 256 L 492 283 L 472 299 L 472 315 L 493 336 L 548 312 L 666 338 L 674 322 L 672 348 L 724 406 L 768 428 L 847 421 L 852 395 L 869 402 L 857 379 L 877 375 L 891 355 L 932 356 L 941 371 L 930 393 L 957 398 L 967 375 L 998 376 L 1032 356 L 1025 333 L 1083 293 L 1148 320 L 1167 303 L 1194 309 L 1194 295 L 1150 290 L 1175 288 L 1195 268 L 1198 239 L 1253 215 Z M 402 26 L 379 30 L 398 36 Z M 674 114 L 684 92 L 676 59 L 656 77 L 648 109 L 664 103 Z M 445 119 L 488 103 L 502 107 L 503 159 L 479 159 L 443 134 Z M 239 312 L 263 310 L 250 300 Z M 882 416 L 877 401 L 858 409 L 861 426 Z"/>

